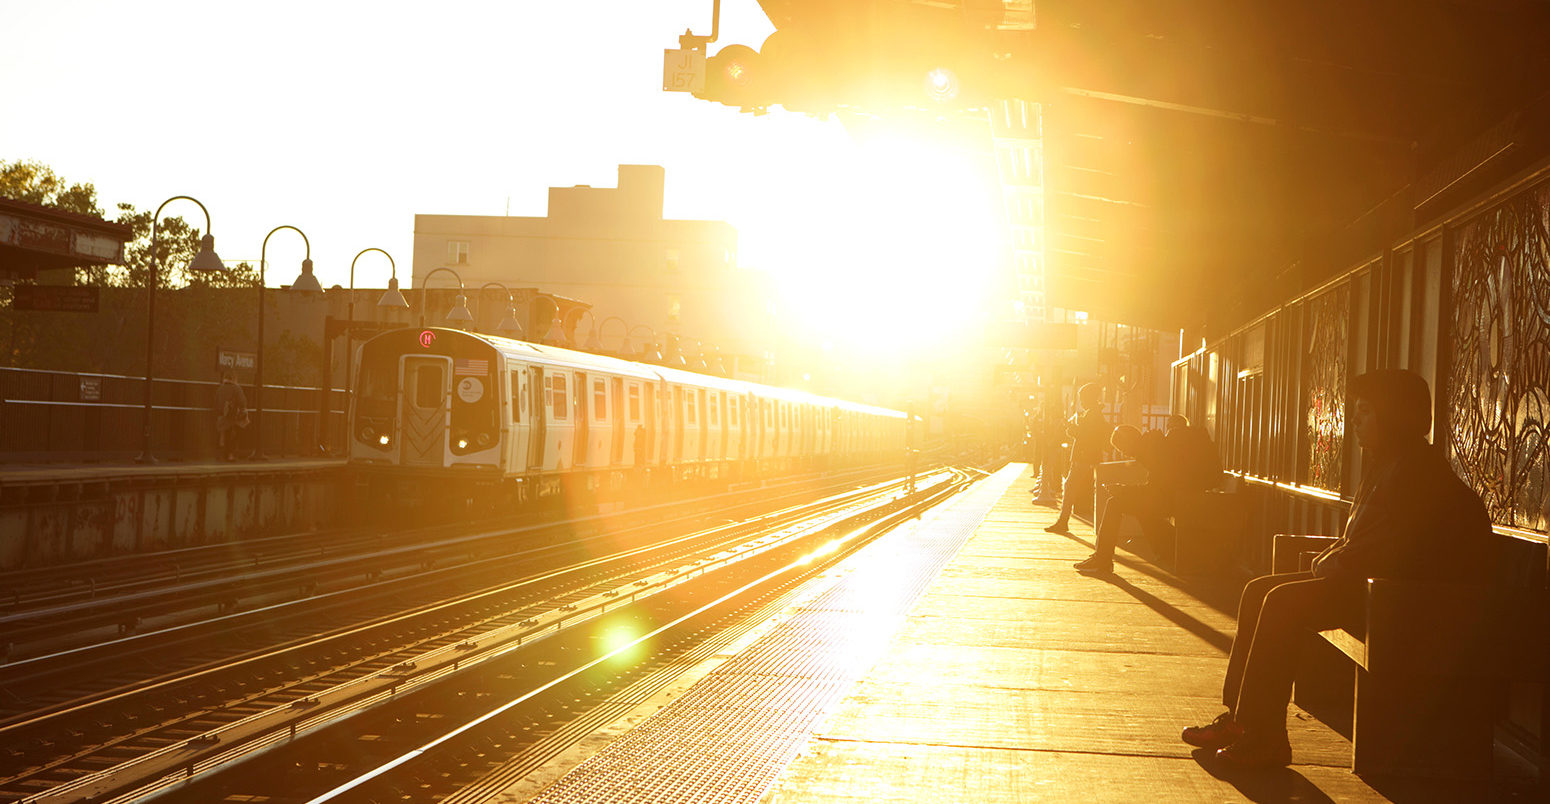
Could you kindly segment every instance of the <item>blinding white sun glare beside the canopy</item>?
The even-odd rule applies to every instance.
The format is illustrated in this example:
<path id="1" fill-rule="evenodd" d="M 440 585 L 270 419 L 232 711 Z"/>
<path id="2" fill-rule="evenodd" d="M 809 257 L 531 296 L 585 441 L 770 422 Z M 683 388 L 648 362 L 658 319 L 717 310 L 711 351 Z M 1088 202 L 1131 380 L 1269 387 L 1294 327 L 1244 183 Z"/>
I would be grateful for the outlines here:
<path id="1" fill-rule="evenodd" d="M 778 229 L 747 232 L 773 246 L 753 266 L 790 322 L 860 353 L 978 327 L 1006 260 L 989 156 L 887 133 L 851 139 L 832 172 L 822 192 L 769 200 L 760 220 Z"/>

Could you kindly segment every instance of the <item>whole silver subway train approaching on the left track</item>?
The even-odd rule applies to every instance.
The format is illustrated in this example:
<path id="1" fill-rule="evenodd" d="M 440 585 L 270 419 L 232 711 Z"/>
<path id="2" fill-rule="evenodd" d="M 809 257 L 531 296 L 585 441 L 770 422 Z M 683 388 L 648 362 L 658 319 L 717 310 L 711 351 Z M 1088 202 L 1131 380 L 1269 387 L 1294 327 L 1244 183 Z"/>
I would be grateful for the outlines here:
<path id="1" fill-rule="evenodd" d="M 358 355 L 349 463 L 386 497 L 522 503 L 902 468 L 899 411 L 439 327 Z"/>

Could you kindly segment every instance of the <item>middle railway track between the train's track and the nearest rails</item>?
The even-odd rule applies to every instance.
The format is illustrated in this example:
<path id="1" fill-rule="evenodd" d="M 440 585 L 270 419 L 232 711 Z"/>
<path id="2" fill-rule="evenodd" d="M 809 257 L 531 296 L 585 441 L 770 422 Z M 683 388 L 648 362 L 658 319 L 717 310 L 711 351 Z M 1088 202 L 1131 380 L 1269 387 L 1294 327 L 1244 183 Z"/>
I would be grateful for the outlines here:
<path id="1" fill-rule="evenodd" d="M 639 545 L 625 545 L 617 531 L 603 530 L 533 548 L 521 556 L 527 572 L 515 578 L 513 559 L 505 555 L 487 559 L 493 573 L 457 567 L 463 579 L 508 575 L 494 586 L 453 593 L 446 582 L 451 569 L 440 570 L 445 576 L 420 573 L 422 589 L 426 578 L 440 578 L 446 589 L 417 606 L 405 606 L 405 593 L 394 592 L 398 604 L 392 612 L 350 627 L 279 627 L 271 635 L 277 638 L 239 655 L 215 655 L 81 696 L 56 692 L 45 705 L 0 722 L 0 744 L 6 745 L 0 801 L 129 801 L 188 784 L 256 751 L 496 663 L 578 623 L 724 576 L 728 567 L 756 556 L 783 555 L 817 533 L 899 507 L 901 497 L 899 483 L 870 486 Z M 595 555 L 578 561 L 577 550 Z M 353 587 L 335 603 L 360 598 L 361 589 Z M 329 607 L 308 610 L 313 618 L 332 617 Z M 305 634 L 285 634 L 290 629 Z M 186 634 L 158 638 L 191 641 Z M 129 657 L 144 655 L 150 644 L 130 648 L 130 641 L 95 648 L 95 660 L 110 661 L 112 644 Z M 12 682 L 25 679 L 23 688 L 46 688 L 50 679 L 59 679 L 50 668 L 67 663 L 70 654 L 0 669 L 11 672 Z M 71 691 L 65 686 L 64 692 Z"/>

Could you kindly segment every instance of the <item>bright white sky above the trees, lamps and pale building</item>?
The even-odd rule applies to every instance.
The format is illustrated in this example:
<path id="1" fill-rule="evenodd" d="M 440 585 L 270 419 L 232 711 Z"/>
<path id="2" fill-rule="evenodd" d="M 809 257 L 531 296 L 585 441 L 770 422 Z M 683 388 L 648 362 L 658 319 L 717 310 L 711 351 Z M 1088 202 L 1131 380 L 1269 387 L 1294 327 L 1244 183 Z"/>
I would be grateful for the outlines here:
<path id="1" fill-rule="evenodd" d="M 270 229 L 298 226 L 324 287 L 349 283 L 366 248 L 394 254 L 408 285 L 415 214 L 544 215 L 550 186 L 662 164 L 665 217 L 730 222 L 742 266 L 846 293 L 891 283 L 891 314 L 928 314 L 941 291 L 919 285 L 966 259 L 958 243 L 995 237 L 983 177 L 907 135 L 662 91 L 662 51 L 710 33 L 710 0 L 0 0 L 0 160 L 93 183 L 108 217 L 192 195 L 228 262 L 256 263 Z M 713 53 L 773 31 L 755 0 L 721 14 Z M 188 201 L 166 214 L 205 226 Z M 274 234 L 267 283 L 290 283 L 302 253 Z M 355 285 L 388 273 L 367 254 Z M 837 305 L 854 296 L 809 307 L 834 321 Z"/>

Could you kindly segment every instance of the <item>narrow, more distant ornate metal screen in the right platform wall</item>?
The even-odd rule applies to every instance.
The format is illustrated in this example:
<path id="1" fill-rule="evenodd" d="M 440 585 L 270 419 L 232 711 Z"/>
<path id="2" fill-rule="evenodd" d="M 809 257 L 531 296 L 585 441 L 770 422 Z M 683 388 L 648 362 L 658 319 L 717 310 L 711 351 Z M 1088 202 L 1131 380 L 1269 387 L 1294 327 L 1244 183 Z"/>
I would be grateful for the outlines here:
<path id="1" fill-rule="evenodd" d="M 1308 431 L 1310 486 L 1339 491 L 1345 449 L 1345 352 L 1350 332 L 1350 285 L 1308 302 L 1308 355 L 1304 364 L 1304 421 Z"/>

